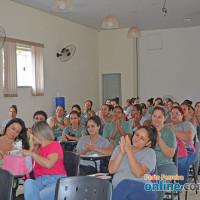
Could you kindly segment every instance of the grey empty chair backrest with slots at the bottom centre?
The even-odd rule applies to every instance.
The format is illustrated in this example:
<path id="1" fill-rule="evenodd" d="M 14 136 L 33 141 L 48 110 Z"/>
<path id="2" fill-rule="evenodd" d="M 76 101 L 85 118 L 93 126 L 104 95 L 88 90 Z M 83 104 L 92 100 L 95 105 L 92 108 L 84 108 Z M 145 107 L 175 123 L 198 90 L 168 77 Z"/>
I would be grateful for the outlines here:
<path id="1" fill-rule="evenodd" d="M 111 200 L 108 180 L 89 176 L 61 178 L 57 181 L 55 200 Z"/>

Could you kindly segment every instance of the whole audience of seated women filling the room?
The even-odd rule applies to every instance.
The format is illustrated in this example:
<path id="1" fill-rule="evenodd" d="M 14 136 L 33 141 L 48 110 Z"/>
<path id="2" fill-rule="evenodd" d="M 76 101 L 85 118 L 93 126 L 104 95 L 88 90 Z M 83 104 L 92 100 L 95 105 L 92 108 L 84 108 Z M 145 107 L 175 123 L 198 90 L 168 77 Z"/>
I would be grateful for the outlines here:
<path id="1" fill-rule="evenodd" d="M 13 105 L 10 119 L 2 124 L 0 168 L 3 157 L 22 141 L 20 152 L 32 157 L 35 177 L 24 183 L 25 199 L 54 199 L 57 180 L 67 177 L 59 142 L 74 140 L 79 155 L 111 156 L 108 170 L 113 174 L 113 200 L 161 200 L 165 191 L 146 191 L 144 186 L 151 180 L 144 177 L 178 174 L 184 177 L 181 185 L 188 181 L 190 165 L 197 160 L 194 145 L 198 142 L 200 102 L 193 109 L 189 100 L 181 105 L 171 99 L 153 100 L 140 104 L 138 98 L 128 99 L 122 109 L 118 98 L 108 99 L 96 113 L 88 100 L 83 111 L 75 104 L 67 116 L 64 107 L 57 106 L 50 118 L 44 111 L 35 112 L 31 129 L 16 118 L 17 107 Z M 178 169 L 173 161 L 177 148 Z M 80 175 L 96 172 L 94 162 L 81 160 Z"/>

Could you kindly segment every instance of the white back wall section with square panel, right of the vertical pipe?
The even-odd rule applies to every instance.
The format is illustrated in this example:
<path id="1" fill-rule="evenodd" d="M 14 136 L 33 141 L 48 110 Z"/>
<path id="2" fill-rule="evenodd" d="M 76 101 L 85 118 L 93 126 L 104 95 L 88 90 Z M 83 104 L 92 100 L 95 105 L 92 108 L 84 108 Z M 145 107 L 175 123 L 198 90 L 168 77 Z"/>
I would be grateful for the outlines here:
<path id="1" fill-rule="evenodd" d="M 162 49 L 148 50 L 148 37 L 162 35 Z M 200 27 L 143 31 L 140 39 L 140 94 L 150 97 L 172 95 L 200 100 Z M 159 42 L 155 40 L 154 44 Z"/>

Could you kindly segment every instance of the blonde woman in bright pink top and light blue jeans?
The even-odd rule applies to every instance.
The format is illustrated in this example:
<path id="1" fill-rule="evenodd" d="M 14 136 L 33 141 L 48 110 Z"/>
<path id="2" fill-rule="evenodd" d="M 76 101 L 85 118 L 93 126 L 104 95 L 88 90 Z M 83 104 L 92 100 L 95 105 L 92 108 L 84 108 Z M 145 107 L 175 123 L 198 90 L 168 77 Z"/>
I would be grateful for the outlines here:
<path id="1" fill-rule="evenodd" d="M 56 182 L 66 177 L 63 150 L 59 142 L 54 142 L 51 128 L 45 121 L 32 126 L 33 151 L 21 150 L 24 156 L 31 156 L 35 180 L 24 182 L 24 197 L 27 200 L 54 200 Z"/>

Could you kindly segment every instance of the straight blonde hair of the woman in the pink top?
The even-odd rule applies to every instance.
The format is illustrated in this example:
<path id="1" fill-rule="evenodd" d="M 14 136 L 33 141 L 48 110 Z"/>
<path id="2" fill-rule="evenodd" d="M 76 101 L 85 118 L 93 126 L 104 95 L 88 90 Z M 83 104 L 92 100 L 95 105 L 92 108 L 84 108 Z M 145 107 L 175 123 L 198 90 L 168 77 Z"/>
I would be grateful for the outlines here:
<path id="1" fill-rule="evenodd" d="M 40 140 L 54 141 L 53 132 L 46 121 L 39 121 L 32 126 L 32 134 Z M 37 145 L 35 152 L 39 153 L 41 145 Z"/>

